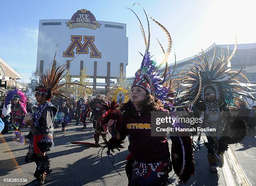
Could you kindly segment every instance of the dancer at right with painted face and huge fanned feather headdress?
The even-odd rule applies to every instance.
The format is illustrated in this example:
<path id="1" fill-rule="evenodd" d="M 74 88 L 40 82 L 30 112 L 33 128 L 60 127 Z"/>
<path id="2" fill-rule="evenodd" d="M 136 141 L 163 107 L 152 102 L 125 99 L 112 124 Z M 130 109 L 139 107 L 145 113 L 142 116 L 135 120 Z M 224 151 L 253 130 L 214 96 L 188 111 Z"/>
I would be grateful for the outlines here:
<path id="1" fill-rule="evenodd" d="M 208 154 L 207 158 L 211 171 L 217 172 L 216 166 L 219 156 L 228 148 L 228 144 L 241 141 L 246 135 L 246 126 L 238 118 L 232 120 L 228 105 L 234 101 L 246 103 L 244 98 L 254 100 L 249 93 L 248 82 L 241 70 L 231 70 L 230 60 L 236 52 L 237 44 L 233 53 L 224 56 L 221 49 L 221 56 L 214 55 L 211 58 L 207 53 L 197 56 L 191 62 L 188 71 L 181 72 L 182 83 L 186 95 L 182 103 L 195 99 L 193 106 L 194 116 L 203 117 L 202 126 L 209 129 L 205 132 L 208 142 L 205 143 Z M 201 77 L 201 80 L 200 80 Z M 243 97 L 242 97 L 243 96 Z M 210 132 L 210 129 L 216 131 Z"/>

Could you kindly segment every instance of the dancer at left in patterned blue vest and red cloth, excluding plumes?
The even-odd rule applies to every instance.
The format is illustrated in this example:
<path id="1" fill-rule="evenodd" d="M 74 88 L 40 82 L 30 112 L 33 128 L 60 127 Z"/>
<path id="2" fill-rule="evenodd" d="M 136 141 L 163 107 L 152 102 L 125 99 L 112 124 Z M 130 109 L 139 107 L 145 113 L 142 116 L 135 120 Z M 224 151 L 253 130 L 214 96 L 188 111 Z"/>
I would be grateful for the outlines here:
<path id="1" fill-rule="evenodd" d="M 33 137 L 30 143 L 30 160 L 36 162 L 35 182 L 44 183 L 46 175 L 51 173 L 50 160 L 46 151 L 54 146 L 53 141 L 53 123 L 57 113 L 57 108 L 49 102 L 51 93 L 45 89 L 38 88 L 35 94 L 38 107 L 32 115 L 32 120 L 27 122 L 30 125 Z"/>

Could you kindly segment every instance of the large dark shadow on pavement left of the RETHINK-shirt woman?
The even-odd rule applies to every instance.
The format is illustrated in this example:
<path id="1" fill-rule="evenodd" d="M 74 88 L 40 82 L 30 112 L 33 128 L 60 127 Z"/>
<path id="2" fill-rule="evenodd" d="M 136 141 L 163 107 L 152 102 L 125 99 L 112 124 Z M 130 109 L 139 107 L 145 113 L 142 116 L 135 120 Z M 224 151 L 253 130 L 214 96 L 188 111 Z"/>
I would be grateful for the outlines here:
<path id="1" fill-rule="evenodd" d="M 84 147 L 80 147 L 80 148 L 84 150 Z M 106 149 L 103 150 L 103 153 L 105 152 L 106 152 Z M 121 151 L 114 156 L 115 168 L 117 168 L 118 171 L 123 171 L 125 169 L 126 156 L 128 156 L 127 150 Z M 111 179 L 109 179 L 110 180 L 109 183 L 106 183 L 102 179 L 102 177 L 103 176 L 107 176 L 108 178 L 113 177 L 109 175 L 110 173 L 114 173 L 115 175 L 118 175 L 118 173 L 115 171 L 115 168 L 112 167 L 112 164 L 108 156 L 103 156 L 102 161 L 100 160 L 100 155 L 97 156 L 97 154 L 86 156 L 76 161 L 75 163 L 68 165 L 67 168 L 54 169 L 54 171 L 47 178 L 46 183 L 49 185 L 56 185 L 56 186 L 62 186 L 62 185 L 83 186 L 83 185 L 86 185 L 87 183 L 93 183 L 93 182 L 95 182 L 96 185 L 112 185 Z M 120 179 L 126 178 L 125 173 L 121 173 L 121 175 L 122 176 L 120 176 Z M 127 180 L 126 180 L 126 183 L 128 183 Z"/>

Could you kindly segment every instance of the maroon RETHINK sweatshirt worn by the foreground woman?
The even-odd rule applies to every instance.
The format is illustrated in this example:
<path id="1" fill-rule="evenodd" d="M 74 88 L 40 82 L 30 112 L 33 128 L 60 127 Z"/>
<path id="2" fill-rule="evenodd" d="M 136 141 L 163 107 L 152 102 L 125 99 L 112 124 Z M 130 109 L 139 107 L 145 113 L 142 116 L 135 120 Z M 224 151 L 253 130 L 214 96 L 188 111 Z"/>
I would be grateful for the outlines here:
<path id="1" fill-rule="evenodd" d="M 128 136 L 128 150 L 136 161 L 154 163 L 170 157 L 167 137 L 151 137 L 150 114 L 141 113 L 141 116 L 135 116 L 125 111 L 119 132 L 122 140 Z"/>

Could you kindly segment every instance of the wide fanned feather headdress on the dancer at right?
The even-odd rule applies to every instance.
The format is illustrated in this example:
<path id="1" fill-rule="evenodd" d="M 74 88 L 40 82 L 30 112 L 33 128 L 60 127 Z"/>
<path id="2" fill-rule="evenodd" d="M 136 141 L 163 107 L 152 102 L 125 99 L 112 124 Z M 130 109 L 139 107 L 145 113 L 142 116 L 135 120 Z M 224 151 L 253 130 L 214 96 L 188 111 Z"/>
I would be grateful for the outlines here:
<path id="1" fill-rule="evenodd" d="M 180 73 L 181 80 L 184 85 L 185 96 L 182 98 L 182 103 L 194 99 L 196 94 L 200 92 L 197 101 L 203 101 L 205 96 L 210 91 L 216 93 L 216 99 L 222 99 L 226 104 L 234 100 L 246 103 L 244 98 L 255 100 L 250 93 L 250 84 L 246 75 L 241 73 L 241 70 L 231 70 L 230 60 L 234 56 L 237 48 L 237 40 L 234 50 L 231 55 L 224 56 L 224 51 L 221 49 L 221 55 L 216 56 L 216 48 L 212 59 L 207 53 L 197 56 L 196 60 L 192 60 L 189 70 Z M 239 61 L 238 61 L 239 62 Z M 198 73 L 200 71 L 200 74 Z M 200 76 L 202 86 L 200 86 Z M 243 96 L 243 97 L 242 97 Z"/>

